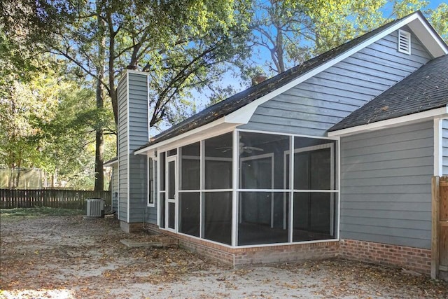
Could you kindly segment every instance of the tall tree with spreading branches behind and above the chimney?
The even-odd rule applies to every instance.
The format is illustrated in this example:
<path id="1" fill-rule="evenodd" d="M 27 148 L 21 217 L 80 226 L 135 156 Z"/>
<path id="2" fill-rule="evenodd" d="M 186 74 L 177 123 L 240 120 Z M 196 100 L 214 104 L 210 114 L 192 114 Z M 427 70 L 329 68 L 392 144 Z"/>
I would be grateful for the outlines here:
<path id="1" fill-rule="evenodd" d="M 17 3 L 19 2 L 19 3 Z M 151 76 L 151 126 L 174 120 L 193 88 L 213 88 L 223 62 L 244 55 L 246 0 L 13 1 L 4 4 L 8 32 L 66 57 L 78 76 L 93 78 L 97 106 L 107 96 L 118 118 L 117 75 L 125 67 Z M 104 89 L 104 91 L 103 91 Z M 102 132 L 97 134 L 97 182 L 102 176 Z"/>

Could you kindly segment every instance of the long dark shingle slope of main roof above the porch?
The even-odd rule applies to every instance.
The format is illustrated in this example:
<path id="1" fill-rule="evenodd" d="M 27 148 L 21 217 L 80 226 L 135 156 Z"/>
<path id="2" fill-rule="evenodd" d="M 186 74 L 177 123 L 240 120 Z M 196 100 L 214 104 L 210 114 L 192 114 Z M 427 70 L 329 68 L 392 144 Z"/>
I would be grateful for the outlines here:
<path id="1" fill-rule="evenodd" d="M 417 11 L 416 13 L 421 14 L 420 11 Z M 272 92 L 277 88 L 281 88 L 281 86 L 286 85 L 287 83 L 293 81 L 295 78 L 301 76 L 302 74 L 305 74 L 315 69 L 316 67 L 321 66 L 325 62 L 328 62 L 329 60 L 332 60 L 335 57 L 342 55 L 347 50 L 350 50 L 351 48 L 358 46 L 360 43 L 367 41 L 367 39 L 370 39 L 376 34 L 379 34 L 385 29 L 388 29 L 388 27 L 392 27 L 397 22 L 400 22 L 400 20 L 402 19 L 389 22 L 386 25 L 383 25 L 377 29 L 372 30 L 371 32 L 368 32 L 367 34 L 364 34 L 363 36 L 359 36 L 356 39 L 352 39 L 351 41 L 348 41 L 342 44 L 341 46 L 338 46 L 337 48 L 334 48 L 332 50 L 329 50 L 328 52 L 318 55 L 312 58 L 311 60 L 307 60 L 306 62 L 303 62 L 302 64 L 297 65 L 296 67 L 288 69 L 288 71 L 284 71 L 283 73 L 276 75 L 272 78 L 269 78 L 268 80 L 263 81 L 258 85 L 252 86 L 247 90 L 239 92 L 236 95 L 233 95 L 232 97 L 223 100 L 222 102 L 214 104 L 213 106 L 209 106 L 207 109 L 200 111 L 194 116 L 191 116 L 190 118 L 183 120 L 181 123 L 178 123 L 177 125 L 170 127 L 168 130 L 156 135 L 151 139 L 150 142 L 148 142 L 148 144 L 141 146 L 141 148 L 145 148 L 147 146 L 157 144 L 160 141 L 176 137 L 180 134 L 193 130 L 197 127 L 201 127 L 202 125 L 207 125 L 208 123 L 211 123 L 214 120 L 222 118 L 223 116 L 226 116 L 232 113 L 233 111 L 237 111 L 241 107 L 246 106 L 247 104 L 255 101 L 256 99 L 259 99 L 264 95 L 267 95 L 269 92 Z"/>

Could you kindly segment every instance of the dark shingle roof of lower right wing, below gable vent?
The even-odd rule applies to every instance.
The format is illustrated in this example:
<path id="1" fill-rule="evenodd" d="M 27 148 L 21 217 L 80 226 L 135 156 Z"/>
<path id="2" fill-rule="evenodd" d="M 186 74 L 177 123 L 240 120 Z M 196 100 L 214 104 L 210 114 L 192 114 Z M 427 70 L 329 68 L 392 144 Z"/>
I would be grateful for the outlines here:
<path id="1" fill-rule="evenodd" d="M 448 55 L 438 57 L 330 128 L 342 130 L 448 104 Z"/>

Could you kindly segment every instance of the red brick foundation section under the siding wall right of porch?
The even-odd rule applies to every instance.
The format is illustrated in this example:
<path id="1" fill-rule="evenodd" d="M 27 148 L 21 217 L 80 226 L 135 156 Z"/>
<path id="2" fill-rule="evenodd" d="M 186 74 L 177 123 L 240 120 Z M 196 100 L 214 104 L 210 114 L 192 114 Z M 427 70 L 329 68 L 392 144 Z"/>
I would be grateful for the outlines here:
<path id="1" fill-rule="evenodd" d="M 339 249 L 340 256 L 349 260 L 405 267 L 423 274 L 430 274 L 430 249 L 352 239 L 342 239 L 339 243 Z"/>

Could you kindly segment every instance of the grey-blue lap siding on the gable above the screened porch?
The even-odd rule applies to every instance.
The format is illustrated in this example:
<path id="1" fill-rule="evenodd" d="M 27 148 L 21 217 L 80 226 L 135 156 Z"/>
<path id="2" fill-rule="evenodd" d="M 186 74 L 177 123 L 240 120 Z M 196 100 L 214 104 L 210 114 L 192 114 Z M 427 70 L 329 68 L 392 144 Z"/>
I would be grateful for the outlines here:
<path id="1" fill-rule="evenodd" d="M 412 55 L 399 53 L 393 32 L 342 62 L 258 106 L 240 128 L 325 136 L 340 120 L 426 64 L 412 36 Z"/>

